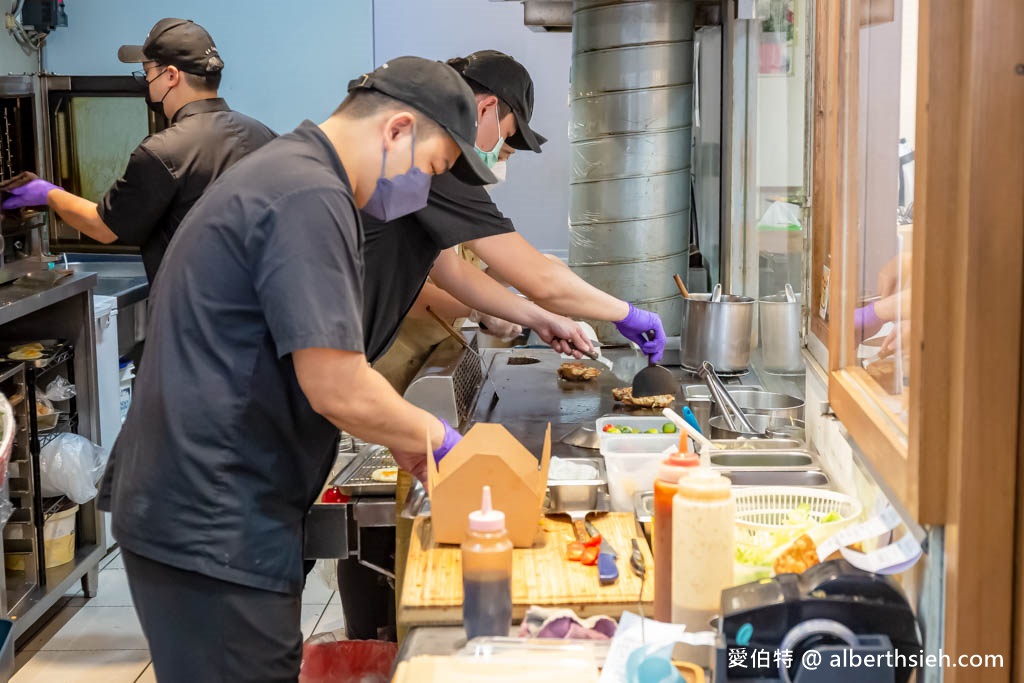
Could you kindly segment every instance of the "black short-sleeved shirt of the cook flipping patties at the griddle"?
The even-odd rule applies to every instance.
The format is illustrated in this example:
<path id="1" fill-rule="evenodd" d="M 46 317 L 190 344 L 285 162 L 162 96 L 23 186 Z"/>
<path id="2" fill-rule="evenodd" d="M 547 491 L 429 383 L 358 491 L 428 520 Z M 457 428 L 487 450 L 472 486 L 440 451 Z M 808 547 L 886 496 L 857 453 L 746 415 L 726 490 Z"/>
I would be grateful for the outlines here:
<path id="1" fill-rule="evenodd" d="M 434 177 L 426 208 L 389 223 L 364 213 L 362 225 L 367 268 L 362 327 L 371 361 L 394 342 L 442 250 L 515 230 L 487 190 L 451 173 Z"/>

